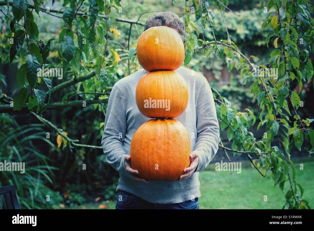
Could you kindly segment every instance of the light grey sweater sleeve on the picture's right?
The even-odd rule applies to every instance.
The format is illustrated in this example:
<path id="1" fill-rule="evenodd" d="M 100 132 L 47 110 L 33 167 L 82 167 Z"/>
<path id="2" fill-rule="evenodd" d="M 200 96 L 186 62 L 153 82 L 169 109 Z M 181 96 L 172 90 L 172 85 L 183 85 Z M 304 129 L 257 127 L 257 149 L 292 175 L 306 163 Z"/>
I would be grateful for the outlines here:
<path id="1" fill-rule="evenodd" d="M 197 142 L 193 152 L 199 157 L 198 167 L 195 170 L 199 172 L 214 158 L 220 140 L 213 93 L 205 78 L 197 98 L 196 116 Z"/>

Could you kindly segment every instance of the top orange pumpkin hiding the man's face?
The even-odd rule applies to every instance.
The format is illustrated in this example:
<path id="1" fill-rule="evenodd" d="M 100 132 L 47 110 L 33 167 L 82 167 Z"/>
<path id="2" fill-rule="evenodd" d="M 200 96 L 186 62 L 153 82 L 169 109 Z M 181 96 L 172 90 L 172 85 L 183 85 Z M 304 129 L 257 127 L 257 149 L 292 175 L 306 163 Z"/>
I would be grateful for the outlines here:
<path id="1" fill-rule="evenodd" d="M 138 62 L 147 71 L 176 70 L 183 63 L 183 41 L 174 29 L 154 26 L 143 32 L 136 46 Z"/>

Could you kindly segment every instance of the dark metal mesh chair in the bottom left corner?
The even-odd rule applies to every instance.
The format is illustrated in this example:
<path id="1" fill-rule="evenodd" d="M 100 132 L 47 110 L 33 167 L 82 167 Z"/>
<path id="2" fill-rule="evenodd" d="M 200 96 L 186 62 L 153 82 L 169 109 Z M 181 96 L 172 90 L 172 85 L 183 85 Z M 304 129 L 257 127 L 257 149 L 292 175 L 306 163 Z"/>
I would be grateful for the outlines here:
<path id="1" fill-rule="evenodd" d="M 0 209 L 19 209 L 14 185 L 0 188 Z"/>

